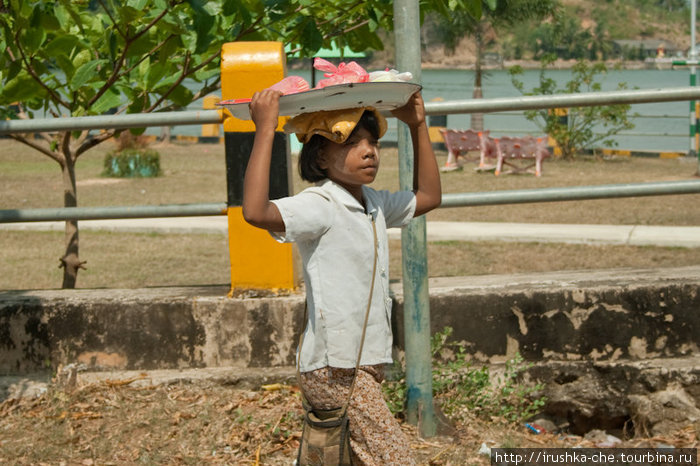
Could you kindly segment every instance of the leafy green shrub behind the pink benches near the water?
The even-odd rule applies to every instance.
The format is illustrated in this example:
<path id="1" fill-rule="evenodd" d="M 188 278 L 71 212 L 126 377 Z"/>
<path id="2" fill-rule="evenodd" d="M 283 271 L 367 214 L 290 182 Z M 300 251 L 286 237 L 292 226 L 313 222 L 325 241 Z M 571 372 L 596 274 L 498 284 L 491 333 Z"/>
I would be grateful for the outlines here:
<path id="1" fill-rule="evenodd" d="M 524 84 L 518 79 L 523 73 L 520 66 L 510 69 L 513 85 L 524 95 L 573 94 L 578 92 L 600 91 L 600 83 L 596 80 L 601 73 L 607 72 L 603 63 L 588 64 L 579 61 L 572 68 L 571 80 L 562 89 L 557 88 L 554 79 L 546 76 L 546 69 L 556 57 L 549 55 L 542 60 L 540 67 L 539 86 L 527 92 Z M 626 89 L 625 83 L 619 83 L 618 89 Z M 627 104 L 603 105 L 595 107 L 575 107 L 569 109 L 566 119 L 551 109 L 528 110 L 525 116 L 534 121 L 546 134 L 549 134 L 561 148 L 562 158 L 573 159 L 583 148 L 594 147 L 603 142 L 615 146 L 617 142 L 611 136 L 620 131 L 634 128 L 629 119 L 630 106 Z"/>

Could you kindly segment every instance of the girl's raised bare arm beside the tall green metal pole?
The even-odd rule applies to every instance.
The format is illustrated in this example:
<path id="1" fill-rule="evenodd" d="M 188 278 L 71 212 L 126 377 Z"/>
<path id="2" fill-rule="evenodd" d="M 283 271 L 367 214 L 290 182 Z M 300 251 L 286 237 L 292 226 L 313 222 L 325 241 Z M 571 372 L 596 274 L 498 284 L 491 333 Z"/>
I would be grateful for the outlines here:
<path id="1" fill-rule="evenodd" d="M 416 193 L 415 217 L 423 215 L 442 202 L 440 170 L 433 152 L 425 121 L 425 106 L 420 92 L 411 96 L 408 103 L 392 114 L 406 123 L 413 142 L 413 192 Z"/>

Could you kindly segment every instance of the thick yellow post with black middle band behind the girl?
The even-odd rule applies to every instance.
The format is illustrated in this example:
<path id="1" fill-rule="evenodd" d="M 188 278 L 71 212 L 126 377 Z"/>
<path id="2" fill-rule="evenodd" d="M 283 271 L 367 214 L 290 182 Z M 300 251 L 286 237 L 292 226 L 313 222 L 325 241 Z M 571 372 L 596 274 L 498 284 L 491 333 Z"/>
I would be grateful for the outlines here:
<path id="1" fill-rule="evenodd" d="M 221 97 L 250 98 L 284 78 L 286 58 L 281 42 L 231 42 L 221 49 Z M 280 118 L 272 149 L 270 198 L 292 194 L 289 141 Z M 224 120 L 228 235 L 231 258 L 231 292 L 242 289 L 289 290 L 299 285 L 295 251 L 243 219 L 243 178 L 253 147 L 252 121 Z"/>

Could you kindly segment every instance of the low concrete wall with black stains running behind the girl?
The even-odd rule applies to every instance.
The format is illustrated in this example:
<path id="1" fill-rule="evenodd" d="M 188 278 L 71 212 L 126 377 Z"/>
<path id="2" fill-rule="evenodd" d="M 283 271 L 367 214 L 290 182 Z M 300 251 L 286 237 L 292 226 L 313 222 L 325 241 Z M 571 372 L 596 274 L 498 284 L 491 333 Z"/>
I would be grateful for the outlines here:
<path id="1" fill-rule="evenodd" d="M 614 361 L 700 346 L 700 267 L 432 279 L 433 331 L 476 359 Z M 402 290 L 395 343 L 403 347 Z M 0 374 L 294 363 L 303 296 L 227 298 L 227 287 L 0 292 Z"/>

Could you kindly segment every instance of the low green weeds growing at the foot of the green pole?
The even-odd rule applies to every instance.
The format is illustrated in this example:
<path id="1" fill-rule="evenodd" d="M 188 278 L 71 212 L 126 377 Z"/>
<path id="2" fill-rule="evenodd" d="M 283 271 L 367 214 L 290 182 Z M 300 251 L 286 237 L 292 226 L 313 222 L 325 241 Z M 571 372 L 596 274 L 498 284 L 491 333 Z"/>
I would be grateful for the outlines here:
<path id="1" fill-rule="evenodd" d="M 542 386 L 521 382 L 523 372 L 530 365 L 523 363 L 520 354 L 506 362 L 500 377 L 493 377 L 487 366 L 472 367 L 465 345 L 447 341 L 451 335 L 452 328 L 445 327 L 431 339 L 433 396 L 445 415 L 454 420 L 477 416 L 517 422 L 536 414 L 544 405 L 544 397 L 537 396 Z M 384 384 L 387 404 L 395 415 L 403 412 L 406 393 L 403 376 Z"/>

